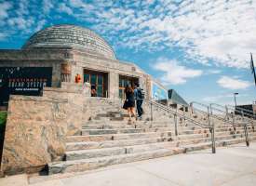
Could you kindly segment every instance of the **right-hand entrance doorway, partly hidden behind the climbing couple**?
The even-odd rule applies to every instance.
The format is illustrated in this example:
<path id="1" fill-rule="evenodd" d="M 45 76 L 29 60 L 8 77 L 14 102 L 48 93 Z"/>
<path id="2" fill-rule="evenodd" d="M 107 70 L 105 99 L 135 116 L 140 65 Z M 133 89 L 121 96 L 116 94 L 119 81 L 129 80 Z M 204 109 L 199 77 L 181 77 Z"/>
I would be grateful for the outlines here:
<path id="1" fill-rule="evenodd" d="M 135 83 L 139 83 L 139 78 L 119 75 L 119 99 L 125 100 L 126 86 L 134 86 Z"/>

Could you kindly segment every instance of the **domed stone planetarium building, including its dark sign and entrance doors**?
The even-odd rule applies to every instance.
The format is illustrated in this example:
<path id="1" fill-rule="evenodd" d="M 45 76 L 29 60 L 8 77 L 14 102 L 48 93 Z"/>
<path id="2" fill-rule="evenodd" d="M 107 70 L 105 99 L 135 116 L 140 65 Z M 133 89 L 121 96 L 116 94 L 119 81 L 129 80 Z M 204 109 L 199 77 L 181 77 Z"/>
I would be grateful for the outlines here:
<path id="1" fill-rule="evenodd" d="M 44 86 L 89 82 L 97 97 L 124 98 L 127 84 L 140 83 L 148 98 L 165 100 L 168 91 L 115 51 L 97 33 L 75 25 L 55 25 L 34 33 L 21 49 L 0 50 L 0 104 L 10 94 L 39 95 Z"/>

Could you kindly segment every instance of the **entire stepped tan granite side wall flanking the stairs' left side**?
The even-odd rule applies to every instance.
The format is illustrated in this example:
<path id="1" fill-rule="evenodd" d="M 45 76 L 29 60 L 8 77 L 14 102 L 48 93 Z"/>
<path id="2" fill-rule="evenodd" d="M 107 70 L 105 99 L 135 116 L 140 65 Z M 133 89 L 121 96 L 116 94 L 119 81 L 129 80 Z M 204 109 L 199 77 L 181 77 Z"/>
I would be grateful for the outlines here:
<path id="1" fill-rule="evenodd" d="M 11 96 L 1 171 L 37 172 L 62 160 L 66 138 L 81 135 L 82 124 L 109 106 L 121 109 L 121 102 L 86 97 L 83 86 L 70 83 L 46 87 L 43 97 Z"/>

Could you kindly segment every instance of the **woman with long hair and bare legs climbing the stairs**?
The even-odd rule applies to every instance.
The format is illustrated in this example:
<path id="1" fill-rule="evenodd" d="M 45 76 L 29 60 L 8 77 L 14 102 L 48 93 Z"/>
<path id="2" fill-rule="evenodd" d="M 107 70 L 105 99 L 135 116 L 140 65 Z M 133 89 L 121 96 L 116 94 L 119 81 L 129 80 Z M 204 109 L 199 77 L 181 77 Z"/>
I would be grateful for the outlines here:
<path id="1" fill-rule="evenodd" d="M 129 116 L 128 121 L 131 122 L 132 114 L 136 119 L 136 114 L 134 111 L 134 108 L 135 108 L 134 91 L 131 85 L 126 86 L 125 93 L 126 93 L 126 101 L 123 108 L 125 109 L 127 108 L 128 116 Z"/>

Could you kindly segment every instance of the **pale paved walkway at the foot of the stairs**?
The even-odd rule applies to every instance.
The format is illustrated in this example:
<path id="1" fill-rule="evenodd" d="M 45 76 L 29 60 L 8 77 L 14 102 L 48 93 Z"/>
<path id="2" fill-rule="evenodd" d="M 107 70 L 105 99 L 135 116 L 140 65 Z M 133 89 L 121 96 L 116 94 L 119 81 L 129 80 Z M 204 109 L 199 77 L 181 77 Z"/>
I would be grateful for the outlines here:
<path id="1" fill-rule="evenodd" d="M 89 173 L 61 174 L 27 179 L 26 175 L 0 179 L 2 186 L 255 186 L 256 142 L 218 148 L 216 154 L 200 151 Z"/>

